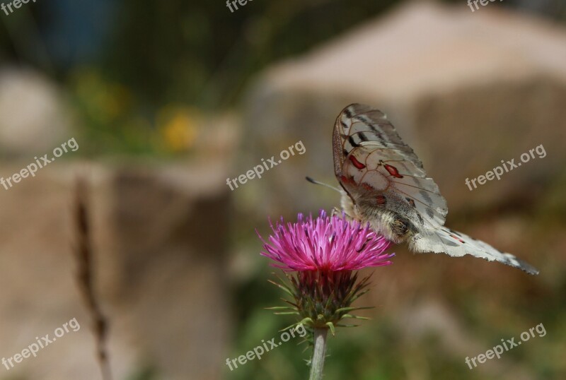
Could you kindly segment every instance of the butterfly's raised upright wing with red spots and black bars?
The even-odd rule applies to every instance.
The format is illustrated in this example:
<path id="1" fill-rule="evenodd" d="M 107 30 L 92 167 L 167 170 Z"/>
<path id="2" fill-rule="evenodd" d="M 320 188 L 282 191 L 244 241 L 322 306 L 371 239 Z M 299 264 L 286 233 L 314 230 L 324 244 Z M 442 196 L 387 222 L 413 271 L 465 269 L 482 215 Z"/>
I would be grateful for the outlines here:
<path id="1" fill-rule="evenodd" d="M 336 177 L 354 203 L 371 196 L 419 231 L 444 225 L 446 200 L 383 112 L 359 104 L 343 109 L 334 127 L 333 153 Z"/>

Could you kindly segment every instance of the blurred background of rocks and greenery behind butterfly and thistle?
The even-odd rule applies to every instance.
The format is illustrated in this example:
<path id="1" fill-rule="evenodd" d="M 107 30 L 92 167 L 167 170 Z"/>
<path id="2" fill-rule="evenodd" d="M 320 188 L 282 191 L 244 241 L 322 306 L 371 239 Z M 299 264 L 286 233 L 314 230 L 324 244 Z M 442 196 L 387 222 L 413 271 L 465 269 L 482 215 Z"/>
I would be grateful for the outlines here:
<path id="1" fill-rule="evenodd" d="M 5 1 L 8 4 L 8 1 Z M 446 224 L 529 261 L 530 276 L 393 247 L 374 306 L 330 338 L 325 379 L 566 379 L 566 3 L 37 0 L 0 11 L 0 357 L 76 318 L 80 331 L 2 380 L 100 379 L 77 286 L 76 179 L 88 182 L 96 295 L 114 379 L 306 379 L 294 322 L 259 256 L 267 218 L 339 206 L 331 133 L 379 107 L 449 205 Z M 6 14 L 7 13 L 7 14 Z M 226 184 L 301 141 L 306 153 Z M 470 191 L 475 178 L 543 145 Z M 543 323 L 502 358 L 502 339 Z"/>

